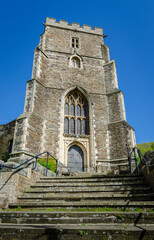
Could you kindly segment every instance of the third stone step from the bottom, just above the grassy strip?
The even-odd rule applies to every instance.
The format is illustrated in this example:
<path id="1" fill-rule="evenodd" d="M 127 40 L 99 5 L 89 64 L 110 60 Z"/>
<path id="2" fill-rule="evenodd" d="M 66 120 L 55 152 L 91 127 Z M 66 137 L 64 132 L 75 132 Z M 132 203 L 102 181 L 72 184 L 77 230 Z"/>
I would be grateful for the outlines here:
<path id="1" fill-rule="evenodd" d="M 21 201 L 17 203 L 10 203 L 9 208 L 17 208 L 18 206 L 22 208 L 102 208 L 102 207 L 112 207 L 112 208 L 142 208 L 142 209 L 153 209 L 154 201 L 130 201 L 130 200 L 81 200 L 81 201 Z"/>

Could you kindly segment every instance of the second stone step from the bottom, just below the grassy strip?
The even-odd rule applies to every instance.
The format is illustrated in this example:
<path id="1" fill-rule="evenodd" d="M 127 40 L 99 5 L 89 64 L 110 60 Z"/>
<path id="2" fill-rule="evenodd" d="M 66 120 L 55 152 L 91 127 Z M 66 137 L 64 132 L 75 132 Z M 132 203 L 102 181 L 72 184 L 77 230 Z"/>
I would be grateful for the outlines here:
<path id="1" fill-rule="evenodd" d="M 87 224 L 132 223 L 152 224 L 151 212 L 0 212 L 0 223 L 12 224 Z"/>

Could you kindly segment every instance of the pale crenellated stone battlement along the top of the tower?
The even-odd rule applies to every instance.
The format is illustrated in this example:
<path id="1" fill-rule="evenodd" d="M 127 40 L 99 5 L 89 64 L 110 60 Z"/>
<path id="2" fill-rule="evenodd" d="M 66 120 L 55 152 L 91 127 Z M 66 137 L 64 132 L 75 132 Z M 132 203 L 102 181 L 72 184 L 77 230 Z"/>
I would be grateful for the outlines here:
<path id="1" fill-rule="evenodd" d="M 69 24 L 67 21 L 64 21 L 64 20 L 60 20 L 59 22 L 56 22 L 55 18 L 49 18 L 49 17 L 46 18 L 45 26 L 54 26 L 54 27 L 58 27 L 58 28 L 76 30 L 79 32 L 103 35 L 102 28 L 94 27 L 94 29 L 92 29 L 91 26 L 89 26 L 89 25 L 83 25 L 83 27 L 82 27 L 82 26 L 80 26 L 79 23 L 72 22 L 71 24 Z"/>

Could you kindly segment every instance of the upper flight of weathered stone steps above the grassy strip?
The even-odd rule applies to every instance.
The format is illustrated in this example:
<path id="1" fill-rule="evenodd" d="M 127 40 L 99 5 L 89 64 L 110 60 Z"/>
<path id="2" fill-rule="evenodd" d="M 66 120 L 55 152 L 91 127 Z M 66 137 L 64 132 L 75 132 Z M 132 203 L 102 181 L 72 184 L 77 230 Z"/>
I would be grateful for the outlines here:
<path id="1" fill-rule="evenodd" d="M 147 187 L 140 175 L 43 177 L 10 207 L 151 208 L 154 193 Z"/>

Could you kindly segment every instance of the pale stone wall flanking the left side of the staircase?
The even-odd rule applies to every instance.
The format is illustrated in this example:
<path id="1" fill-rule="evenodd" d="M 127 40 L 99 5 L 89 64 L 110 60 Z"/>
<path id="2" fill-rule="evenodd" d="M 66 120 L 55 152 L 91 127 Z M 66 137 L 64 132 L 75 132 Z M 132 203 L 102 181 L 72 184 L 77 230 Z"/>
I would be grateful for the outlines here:
<path id="1" fill-rule="evenodd" d="M 4 164 L 0 161 L 0 164 Z M 18 164 L 8 162 L 6 166 L 16 167 Z M 28 167 L 20 167 L 20 169 L 3 168 L 0 171 L 0 208 L 7 208 L 8 204 L 17 202 L 17 198 L 24 193 L 24 190 L 29 188 L 40 177 L 46 175 L 46 168 L 37 164 L 35 170 L 32 170 L 33 163 Z M 48 176 L 55 176 L 54 173 L 48 171 Z"/>

